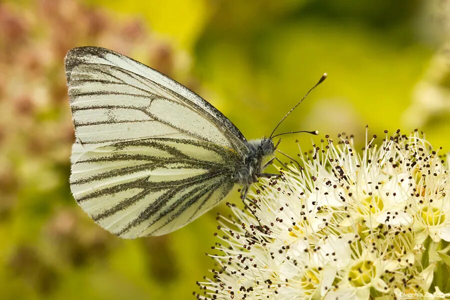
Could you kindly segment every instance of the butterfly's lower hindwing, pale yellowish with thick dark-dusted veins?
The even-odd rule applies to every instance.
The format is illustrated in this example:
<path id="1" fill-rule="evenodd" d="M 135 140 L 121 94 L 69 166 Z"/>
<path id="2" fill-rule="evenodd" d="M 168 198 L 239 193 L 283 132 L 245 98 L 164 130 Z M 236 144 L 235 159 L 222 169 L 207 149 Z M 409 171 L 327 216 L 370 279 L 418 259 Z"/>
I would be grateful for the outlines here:
<path id="1" fill-rule="evenodd" d="M 212 142 L 148 138 L 78 153 L 70 187 L 101 227 L 123 238 L 161 235 L 194 220 L 232 188 L 234 150 Z"/>

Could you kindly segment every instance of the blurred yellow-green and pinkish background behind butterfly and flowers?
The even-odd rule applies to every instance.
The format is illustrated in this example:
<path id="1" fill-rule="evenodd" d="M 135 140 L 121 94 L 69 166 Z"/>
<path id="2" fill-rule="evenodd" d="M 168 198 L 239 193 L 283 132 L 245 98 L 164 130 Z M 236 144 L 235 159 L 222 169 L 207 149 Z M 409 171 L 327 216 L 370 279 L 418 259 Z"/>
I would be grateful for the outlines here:
<path id="1" fill-rule="evenodd" d="M 171 234 L 121 240 L 68 186 L 63 57 L 122 52 L 190 87 L 247 138 L 425 130 L 450 147 L 450 4 L 442 0 L 0 0 L 0 298 L 184 299 L 213 266 L 222 204 Z M 311 136 L 285 136 L 295 155 Z M 228 201 L 235 201 L 233 192 Z"/>

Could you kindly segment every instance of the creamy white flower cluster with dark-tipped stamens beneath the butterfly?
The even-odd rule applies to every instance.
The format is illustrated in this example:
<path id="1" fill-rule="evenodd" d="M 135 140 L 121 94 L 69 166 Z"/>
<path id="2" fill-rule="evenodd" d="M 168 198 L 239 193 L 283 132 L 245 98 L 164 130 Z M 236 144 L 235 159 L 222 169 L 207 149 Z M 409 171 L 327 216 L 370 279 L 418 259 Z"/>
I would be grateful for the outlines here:
<path id="1" fill-rule="evenodd" d="M 449 292 L 450 176 L 422 134 L 361 153 L 328 136 L 220 216 L 199 299 L 401 299 Z M 301 151 L 300 151 L 301 152 Z M 248 207 L 247 207 L 248 208 Z"/>

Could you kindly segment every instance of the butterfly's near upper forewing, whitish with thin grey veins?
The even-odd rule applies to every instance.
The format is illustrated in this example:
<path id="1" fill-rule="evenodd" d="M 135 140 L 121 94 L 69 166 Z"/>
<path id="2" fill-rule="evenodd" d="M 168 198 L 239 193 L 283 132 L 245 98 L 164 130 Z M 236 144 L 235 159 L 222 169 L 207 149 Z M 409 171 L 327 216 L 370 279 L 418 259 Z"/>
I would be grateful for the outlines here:
<path id="1" fill-rule="evenodd" d="M 75 136 L 86 150 L 149 137 L 214 142 L 245 152 L 213 116 L 183 96 L 128 70 L 80 64 L 67 70 Z"/>

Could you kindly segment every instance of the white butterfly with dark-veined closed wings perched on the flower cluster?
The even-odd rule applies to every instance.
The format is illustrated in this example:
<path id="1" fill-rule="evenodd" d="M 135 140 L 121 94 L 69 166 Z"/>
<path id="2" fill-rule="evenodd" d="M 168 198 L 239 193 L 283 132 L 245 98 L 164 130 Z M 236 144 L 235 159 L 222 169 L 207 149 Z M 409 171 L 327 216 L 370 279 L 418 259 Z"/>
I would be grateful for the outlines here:
<path id="1" fill-rule="evenodd" d="M 301 100 L 268 138 L 247 141 L 203 98 L 127 56 L 85 46 L 69 50 L 64 64 L 75 129 L 70 189 L 97 224 L 122 238 L 176 230 L 235 183 L 244 198 L 271 175 L 263 170 L 276 158 L 266 161 L 273 137 L 317 134 L 273 135 Z"/>

